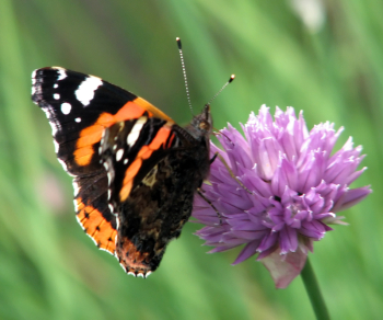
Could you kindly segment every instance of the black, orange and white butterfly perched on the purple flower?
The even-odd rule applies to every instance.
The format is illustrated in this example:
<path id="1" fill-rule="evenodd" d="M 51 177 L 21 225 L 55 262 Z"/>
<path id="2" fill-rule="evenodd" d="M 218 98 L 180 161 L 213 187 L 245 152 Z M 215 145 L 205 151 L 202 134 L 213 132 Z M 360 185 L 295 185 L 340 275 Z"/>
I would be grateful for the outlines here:
<path id="1" fill-rule="evenodd" d="M 148 276 L 179 236 L 209 174 L 209 104 L 182 128 L 97 77 L 53 67 L 35 70 L 32 80 L 32 100 L 73 176 L 77 219 L 128 274 Z"/>

